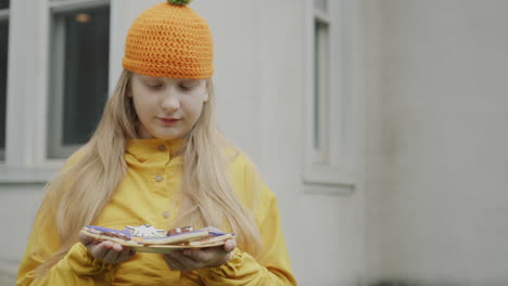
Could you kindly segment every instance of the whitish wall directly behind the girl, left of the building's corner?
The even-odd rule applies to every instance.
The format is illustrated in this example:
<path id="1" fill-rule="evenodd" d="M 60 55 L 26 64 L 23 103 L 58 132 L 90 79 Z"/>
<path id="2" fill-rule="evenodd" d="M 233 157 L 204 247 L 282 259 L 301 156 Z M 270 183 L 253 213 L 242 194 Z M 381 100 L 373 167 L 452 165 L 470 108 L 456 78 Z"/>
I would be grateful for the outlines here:
<path id="1" fill-rule="evenodd" d="M 156 2 L 111 1 L 111 86 L 119 75 L 123 41 L 132 18 Z M 192 6 L 207 18 L 214 34 L 220 127 L 258 165 L 278 196 L 300 285 L 356 285 L 364 276 L 361 177 L 353 192 L 308 192 L 303 183 L 304 1 L 216 0 L 194 1 Z M 23 177 L 23 170 L 16 173 Z M 15 242 L 0 238 L 10 245 L 0 253 L 0 277 L 5 281 L 0 280 L 1 285 L 13 284 L 42 196 L 41 183 L 17 181 L 0 182 L 0 213 L 16 213 L 1 221 L 16 233 Z"/>

